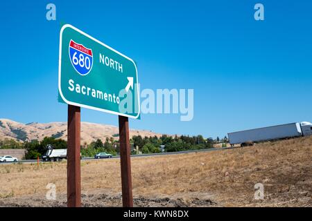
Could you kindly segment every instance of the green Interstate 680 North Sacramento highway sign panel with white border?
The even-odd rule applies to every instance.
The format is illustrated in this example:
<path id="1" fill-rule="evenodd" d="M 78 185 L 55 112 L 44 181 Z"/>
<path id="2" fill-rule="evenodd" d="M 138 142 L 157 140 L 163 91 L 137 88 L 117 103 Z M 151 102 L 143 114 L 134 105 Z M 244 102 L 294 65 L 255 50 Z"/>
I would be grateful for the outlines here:
<path id="1" fill-rule="evenodd" d="M 58 90 L 63 102 L 139 117 L 137 66 L 129 57 L 66 24 L 60 30 Z"/>

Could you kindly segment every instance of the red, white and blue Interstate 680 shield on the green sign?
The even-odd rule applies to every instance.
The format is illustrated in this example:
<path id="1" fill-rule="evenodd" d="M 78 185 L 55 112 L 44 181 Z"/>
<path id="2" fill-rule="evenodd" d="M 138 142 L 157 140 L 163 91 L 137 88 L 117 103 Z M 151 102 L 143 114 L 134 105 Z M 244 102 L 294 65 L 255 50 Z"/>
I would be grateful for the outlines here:
<path id="1" fill-rule="evenodd" d="M 69 57 L 73 68 L 75 68 L 80 75 L 87 75 L 91 71 L 93 64 L 91 49 L 71 40 L 69 42 Z"/>

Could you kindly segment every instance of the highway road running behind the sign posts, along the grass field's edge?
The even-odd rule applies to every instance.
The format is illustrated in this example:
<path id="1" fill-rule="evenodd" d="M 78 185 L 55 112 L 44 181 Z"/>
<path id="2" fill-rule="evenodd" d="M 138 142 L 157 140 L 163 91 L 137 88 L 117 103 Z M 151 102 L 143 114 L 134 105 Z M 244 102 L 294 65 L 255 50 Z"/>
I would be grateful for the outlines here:
<path id="1" fill-rule="evenodd" d="M 163 155 L 176 155 L 176 154 L 185 154 L 185 153 L 198 153 L 198 152 L 209 152 L 209 151 L 223 151 L 227 149 L 232 149 L 233 147 L 222 147 L 222 148 L 209 148 L 209 149 L 202 149 L 202 150 L 196 150 L 196 151 L 179 151 L 179 152 L 166 152 L 166 153 L 148 153 L 148 154 L 138 154 L 138 155 L 131 155 L 131 157 L 155 157 L 155 156 L 163 156 Z M 119 155 L 113 156 L 112 158 L 101 158 L 101 159 L 94 159 L 94 157 L 83 157 L 81 160 L 110 160 L 114 158 L 119 158 Z M 36 163 L 37 160 L 19 160 L 19 162 L 1 162 L 0 165 L 6 165 L 6 164 L 33 164 Z M 46 163 L 42 160 L 39 160 L 39 162 Z"/>

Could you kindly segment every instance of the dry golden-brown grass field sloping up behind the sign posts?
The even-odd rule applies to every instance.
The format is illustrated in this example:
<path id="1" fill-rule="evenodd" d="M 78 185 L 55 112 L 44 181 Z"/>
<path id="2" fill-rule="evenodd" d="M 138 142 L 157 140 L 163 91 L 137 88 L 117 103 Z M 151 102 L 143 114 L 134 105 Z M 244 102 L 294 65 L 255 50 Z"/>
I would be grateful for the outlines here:
<path id="1" fill-rule="evenodd" d="M 132 158 L 135 206 L 312 206 L 312 137 Z M 66 162 L 0 165 L 0 206 L 66 206 Z M 81 162 L 83 206 L 121 206 L 119 159 Z M 46 200 L 46 185 L 56 200 Z M 264 199 L 254 200 L 254 184 Z"/>

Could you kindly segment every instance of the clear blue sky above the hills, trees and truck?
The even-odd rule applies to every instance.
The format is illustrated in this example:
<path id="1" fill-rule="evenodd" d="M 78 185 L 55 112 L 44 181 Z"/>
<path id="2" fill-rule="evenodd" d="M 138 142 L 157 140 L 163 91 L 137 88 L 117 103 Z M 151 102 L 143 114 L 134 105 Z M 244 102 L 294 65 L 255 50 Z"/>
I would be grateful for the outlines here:
<path id="1" fill-rule="evenodd" d="M 55 3 L 56 21 L 46 20 Z M 254 20 L 263 3 L 265 20 Z M 61 23 L 137 62 L 141 89 L 193 88 L 194 117 L 142 115 L 131 128 L 223 137 L 312 121 L 311 1 L 6 1 L 1 3 L 0 118 L 64 122 L 58 103 Z M 118 124 L 82 109 L 82 121 Z"/>

